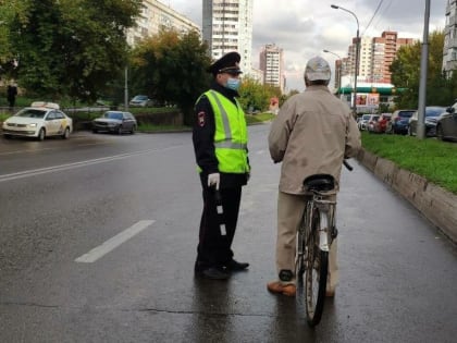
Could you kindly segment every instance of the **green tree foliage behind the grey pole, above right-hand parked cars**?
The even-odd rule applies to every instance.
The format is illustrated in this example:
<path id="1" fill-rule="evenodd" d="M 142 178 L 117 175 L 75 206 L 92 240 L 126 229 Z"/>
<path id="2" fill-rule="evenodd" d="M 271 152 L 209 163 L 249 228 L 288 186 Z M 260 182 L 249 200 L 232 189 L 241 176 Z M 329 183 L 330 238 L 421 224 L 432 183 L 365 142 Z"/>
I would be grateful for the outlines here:
<path id="1" fill-rule="evenodd" d="M 449 106 L 457 93 L 457 75 L 446 77 L 442 72 L 444 32 L 433 32 L 429 36 L 429 58 L 427 76 L 428 106 Z M 398 89 L 395 100 L 397 108 L 418 108 L 421 77 L 422 44 L 402 47 L 391 65 L 392 83 Z"/>

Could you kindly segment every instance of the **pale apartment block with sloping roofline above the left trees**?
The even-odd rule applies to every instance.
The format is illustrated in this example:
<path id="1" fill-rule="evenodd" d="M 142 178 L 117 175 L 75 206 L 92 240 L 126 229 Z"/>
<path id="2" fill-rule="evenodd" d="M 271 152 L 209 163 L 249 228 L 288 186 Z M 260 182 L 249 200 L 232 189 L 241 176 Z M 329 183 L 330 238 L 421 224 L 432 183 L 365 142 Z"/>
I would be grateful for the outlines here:
<path id="1" fill-rule="evenodd" d="M 180 33 L 189 30 L 201 33 L 199 25 L 162 2 L 144 0 L 136 26 L 127 30 L 127 42 L 135 46 L 141 39 L 158 34 L 162 28 L 173 28 Z"/>

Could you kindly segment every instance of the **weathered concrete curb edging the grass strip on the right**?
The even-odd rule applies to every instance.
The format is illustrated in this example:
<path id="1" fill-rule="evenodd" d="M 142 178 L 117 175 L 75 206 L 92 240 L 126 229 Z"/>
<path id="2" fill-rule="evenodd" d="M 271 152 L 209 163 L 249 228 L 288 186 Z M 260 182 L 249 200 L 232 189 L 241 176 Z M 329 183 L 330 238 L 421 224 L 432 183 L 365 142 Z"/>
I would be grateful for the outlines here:
<path id="1" fill-rule="evenodd" d="M 457 244 L 457 196 L 394 162 L 361 149 L 357 159 Z"/>

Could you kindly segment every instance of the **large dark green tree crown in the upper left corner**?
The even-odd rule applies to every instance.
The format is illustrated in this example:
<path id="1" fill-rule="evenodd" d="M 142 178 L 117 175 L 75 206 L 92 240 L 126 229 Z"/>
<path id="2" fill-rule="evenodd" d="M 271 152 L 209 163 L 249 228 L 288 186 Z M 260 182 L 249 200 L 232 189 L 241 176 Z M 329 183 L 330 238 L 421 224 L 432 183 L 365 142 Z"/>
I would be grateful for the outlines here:
<path id="1" fill-rule="evenodd" d="M 13 2 L 22 7 L 9 8 L 9 34 L 2 37 L 10 56 L 0 54 L 18 61 L 9 76 L 22 87 L 53 98 L 95 100 L 125 68 L 125 32 L 135 24 L 140 0 Z"/>

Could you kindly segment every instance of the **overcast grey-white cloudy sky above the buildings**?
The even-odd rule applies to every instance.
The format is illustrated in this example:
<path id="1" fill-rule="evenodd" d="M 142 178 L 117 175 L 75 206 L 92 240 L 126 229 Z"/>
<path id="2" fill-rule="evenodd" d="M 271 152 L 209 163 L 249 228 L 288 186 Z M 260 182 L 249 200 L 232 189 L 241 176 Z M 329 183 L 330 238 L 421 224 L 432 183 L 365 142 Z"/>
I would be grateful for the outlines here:
<path id="1" fill-rule="evenodd" d="M 201 27 L 202 0 L 159 0 Z M 425 0 L 252 0 L 252 64 L 259 66 L 259 52 L 265 44 L 284 51 L 287 90 L 305 88 L 302 73 L 308 59 L 320 54 L 332 69 L 337 59 L 323 49 L 347 56 L 357 22 L 360 36 L 378 37 L 384 30 L 398 32 L 400 38 L 423 37 Z M 447 0 L 431 0 L 429 30 L 443 29 Z M 378 9 L 378 11 L 376 11 Z M 376 14 L 375 14 L 376 13 Z M 374 15 L 375 14 L 375 15 Z M 374 15 L 374 17 L 373 17 Z M 371 24 L 370 24 L 371 22 Z"/>

